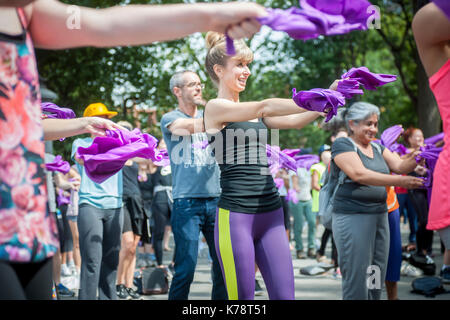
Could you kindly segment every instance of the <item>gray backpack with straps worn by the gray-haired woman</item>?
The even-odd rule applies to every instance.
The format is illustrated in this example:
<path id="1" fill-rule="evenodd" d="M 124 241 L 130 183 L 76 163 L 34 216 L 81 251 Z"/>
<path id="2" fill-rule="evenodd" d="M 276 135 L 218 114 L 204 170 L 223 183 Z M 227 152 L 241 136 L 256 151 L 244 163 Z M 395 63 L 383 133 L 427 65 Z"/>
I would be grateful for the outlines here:
<path id="1" fill-rule="evenodd" d="M 347 138 L 353 144 L 354 151 L 358 153 L 358 147 L 351 138 Z M 374 149 L 381 153 L 381 147 L 377 143 L 371 142 Z M 331 230 L 333 202 L 336 192 L 341 184 L 352 182 L 350 178 L 340 170 L 339 167 L 331 160 L 327 170 L 323 173 L 323 186 L 319 191 L 319 215 L 322 216 L 322 224 L 325 228 Z"/>

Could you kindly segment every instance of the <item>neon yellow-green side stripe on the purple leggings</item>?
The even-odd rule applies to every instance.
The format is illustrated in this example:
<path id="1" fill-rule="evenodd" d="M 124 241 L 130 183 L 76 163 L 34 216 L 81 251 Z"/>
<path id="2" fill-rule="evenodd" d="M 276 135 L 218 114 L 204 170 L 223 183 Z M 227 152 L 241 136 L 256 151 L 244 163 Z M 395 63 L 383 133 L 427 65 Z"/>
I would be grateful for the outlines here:
<path id="1" fill-rule="evenodd" d="M 238 300 L 236 267 L 230 233 L 230 211 L 219 208 L 219 249 L 229 300 Z"/>

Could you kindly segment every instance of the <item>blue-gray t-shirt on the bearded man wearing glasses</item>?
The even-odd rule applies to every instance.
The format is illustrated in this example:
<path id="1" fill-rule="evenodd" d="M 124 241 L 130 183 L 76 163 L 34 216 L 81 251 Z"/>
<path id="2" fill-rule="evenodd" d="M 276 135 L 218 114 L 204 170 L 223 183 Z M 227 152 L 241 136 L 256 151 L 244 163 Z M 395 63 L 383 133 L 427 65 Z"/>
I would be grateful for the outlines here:
<path id="1" fill-rule="evenodd" d="M 198 111 L 196 118 L 203 117 Z M 220 196 L 220 172 L 209 147 L 193 148 L 192 144 L 201 144 L 208 140 L 206 133 L 194 133 L 177 136 L 168 127 L 176 119 L 192 117 L 174 110 L 161 118 L 161 130 L 167 145 L 172 169 L 173 198 L 210 198 Z"/>

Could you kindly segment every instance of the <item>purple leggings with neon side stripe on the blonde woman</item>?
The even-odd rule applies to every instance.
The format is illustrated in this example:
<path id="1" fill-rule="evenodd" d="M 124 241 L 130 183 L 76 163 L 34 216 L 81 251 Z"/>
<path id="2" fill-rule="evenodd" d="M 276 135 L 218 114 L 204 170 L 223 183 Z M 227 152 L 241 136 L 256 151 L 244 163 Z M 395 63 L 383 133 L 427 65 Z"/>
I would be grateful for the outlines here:
<path id="1" fill-rule="evenodd" d="M 255 261 L 269 299 L 294 299 L 294 270 L 282 208 L 255 214 L 217 208 L 214 240 L 229 300 L 254 299 Z"/>

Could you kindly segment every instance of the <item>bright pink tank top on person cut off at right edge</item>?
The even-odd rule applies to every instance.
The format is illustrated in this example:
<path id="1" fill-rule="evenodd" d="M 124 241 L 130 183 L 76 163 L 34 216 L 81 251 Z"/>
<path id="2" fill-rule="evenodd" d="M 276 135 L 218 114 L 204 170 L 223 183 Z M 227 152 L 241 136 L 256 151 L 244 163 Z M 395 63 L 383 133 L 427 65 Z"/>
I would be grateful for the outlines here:
<path id="1" fill-rule="evenodd" d="M 427 229 L 439 230 L 450 226 L 450 60 L 430 77 L 430 88 L 441 114 L 445 145 L 434 169 Z"/>

